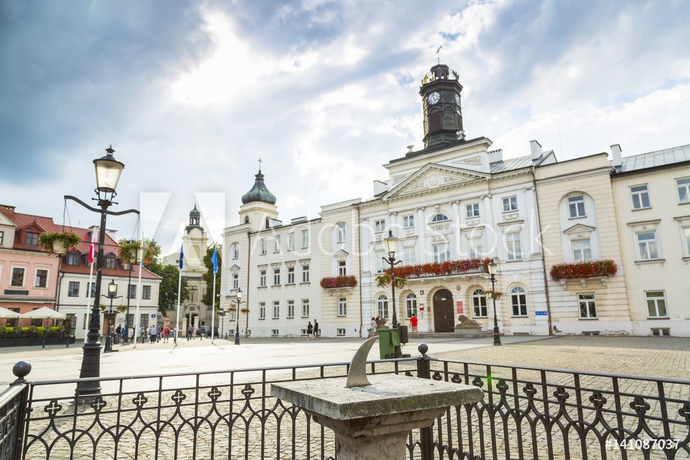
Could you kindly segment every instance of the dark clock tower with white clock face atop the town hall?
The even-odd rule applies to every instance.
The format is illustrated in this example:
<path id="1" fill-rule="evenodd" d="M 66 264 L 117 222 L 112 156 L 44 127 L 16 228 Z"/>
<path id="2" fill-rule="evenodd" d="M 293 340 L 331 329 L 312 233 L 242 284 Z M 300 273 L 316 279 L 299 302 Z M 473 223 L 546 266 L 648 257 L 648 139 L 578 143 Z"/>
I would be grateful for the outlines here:
<path id="1" fill-rule="evenodd" d="M 424 110 L 424 148 L 464 139 L 457 73 L 437 64 L 422 80 L 420 94 Z"/>

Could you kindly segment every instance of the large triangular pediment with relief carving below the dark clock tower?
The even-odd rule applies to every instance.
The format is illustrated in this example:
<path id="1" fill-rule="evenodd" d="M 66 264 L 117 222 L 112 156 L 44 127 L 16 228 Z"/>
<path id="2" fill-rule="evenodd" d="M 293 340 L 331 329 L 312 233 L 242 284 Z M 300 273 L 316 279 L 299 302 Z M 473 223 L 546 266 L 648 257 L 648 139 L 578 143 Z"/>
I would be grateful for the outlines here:
<path id="1" fill-rule="evenodd" d="M 484 174 L 482 172 L 454 168 L 453 166 L 445 166 L 437 163 L 427 163 L 417 170 L 417 172 L 408 176 L 404 181 L 400 181 L 400 183 L 384 195 L 383 199 L 460 186 L 473 181 L 487 179 L 488 177 L 489 174 Z"/>

